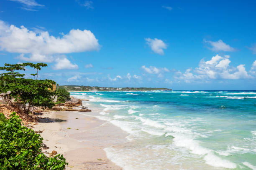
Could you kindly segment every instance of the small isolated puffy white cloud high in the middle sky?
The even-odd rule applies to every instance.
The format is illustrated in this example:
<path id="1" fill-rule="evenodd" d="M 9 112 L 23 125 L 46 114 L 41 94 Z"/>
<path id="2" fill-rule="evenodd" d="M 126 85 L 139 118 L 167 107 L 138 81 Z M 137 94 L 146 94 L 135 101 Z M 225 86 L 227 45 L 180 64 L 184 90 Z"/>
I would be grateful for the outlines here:
<path id="1" fill-rule="evenodd" d="M 145 40 L 149 47 L 151 47 L 151 50 L 153 50 L 156 54 L 164 55 L 163 49 L 167 48 L 167 45 L 164 43 L 164 41 L 157 38 L 145 38 Z"/>

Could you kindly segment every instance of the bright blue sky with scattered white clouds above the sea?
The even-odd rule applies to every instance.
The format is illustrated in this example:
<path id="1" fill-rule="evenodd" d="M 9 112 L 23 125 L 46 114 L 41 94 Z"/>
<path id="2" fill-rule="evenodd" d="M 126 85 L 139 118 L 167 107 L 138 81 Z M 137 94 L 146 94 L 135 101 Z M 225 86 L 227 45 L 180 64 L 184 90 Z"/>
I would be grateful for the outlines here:
<path id="1" fill-rule="evenodd" d="M 255 0 L 1 0 L 0 65 L 47 63 L 38 77 L 59 85 L 256 90 L 255 8 Z"/>

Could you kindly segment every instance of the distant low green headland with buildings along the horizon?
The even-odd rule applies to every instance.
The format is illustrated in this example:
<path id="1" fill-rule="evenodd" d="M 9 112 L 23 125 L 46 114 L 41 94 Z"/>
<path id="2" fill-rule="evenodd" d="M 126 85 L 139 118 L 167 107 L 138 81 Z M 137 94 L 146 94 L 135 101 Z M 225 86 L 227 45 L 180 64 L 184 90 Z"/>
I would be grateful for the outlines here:
<path id="1" fill-rule="evenodd" d="M 98 91 L 109 91 L 109 90 L 131 90 L 131 91 L 139 91 L 139 90 L 172 90 L 168 88 L 149 88 L 149 87 L 98 87 L 98 86 L 79 86 L 79 85 L 61 85 L 59 88 L 65 88 L 68 91 L 90 91 L 90 90 L 98 90 Z"/>

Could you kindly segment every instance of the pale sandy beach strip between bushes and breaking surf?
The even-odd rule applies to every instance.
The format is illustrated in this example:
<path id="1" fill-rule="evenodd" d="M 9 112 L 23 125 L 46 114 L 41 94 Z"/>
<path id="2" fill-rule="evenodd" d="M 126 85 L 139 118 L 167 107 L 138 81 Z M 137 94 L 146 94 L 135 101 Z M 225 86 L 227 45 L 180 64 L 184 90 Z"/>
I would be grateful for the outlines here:
<path id="1" fill-rule="evenodd" d="M 44 112 L 41 117 L 43 121 L 33 130 L 43 131 L 40 135 L 49 149 L 42 151 L 63 154 L 67 170 L 122 170 L 103 150 L 125 140 L 127 134 L 120 128 L 79 112 Z"/>

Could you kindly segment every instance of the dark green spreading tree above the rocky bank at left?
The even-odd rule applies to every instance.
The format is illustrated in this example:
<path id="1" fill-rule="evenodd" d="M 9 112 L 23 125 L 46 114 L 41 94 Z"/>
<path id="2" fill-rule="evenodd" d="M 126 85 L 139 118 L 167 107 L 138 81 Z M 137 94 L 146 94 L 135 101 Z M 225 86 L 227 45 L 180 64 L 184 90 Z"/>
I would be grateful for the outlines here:
<path id="1" fill-rule="evenodd" d="M 25 67 L 28 66 L 41 70 L 41 66 L 46 67 L 47 64 L 33 64 L 30 62 L 13 65 L 5 64 L 4 67 L 0 67 L 0 70 L 5 71 L 5 73 L 0 74 L 0 92 L 10 91 L 10 97 L 15 98 L 16 102 L 22 103 L 25 113 L 30 111 L 31 106 L 52 107 L 54 102 L 51 96 L 54 95 L 54 92 L 49 89 L 52 89 L 52 85 L 56 84 L 56 82 L 47 79 L 34 80 L 24 78 L 25 74 L 20 74 L 18 71 L 25 71 Z M 37 74 L 38 71 L 32 75 Z"/>

